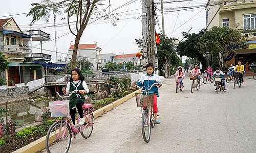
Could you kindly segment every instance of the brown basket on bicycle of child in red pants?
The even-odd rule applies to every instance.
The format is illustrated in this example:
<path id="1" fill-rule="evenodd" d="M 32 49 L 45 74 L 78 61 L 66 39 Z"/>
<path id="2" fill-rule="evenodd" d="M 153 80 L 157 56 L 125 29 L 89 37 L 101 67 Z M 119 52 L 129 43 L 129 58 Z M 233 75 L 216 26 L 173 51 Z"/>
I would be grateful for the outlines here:
<path id="1" fill-rule="evenodd" d="M 136 93 L 135 96 L 138 107 L 153 106 L 155 93 Z"/>

